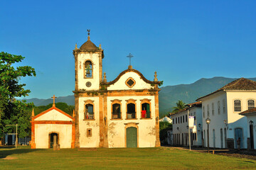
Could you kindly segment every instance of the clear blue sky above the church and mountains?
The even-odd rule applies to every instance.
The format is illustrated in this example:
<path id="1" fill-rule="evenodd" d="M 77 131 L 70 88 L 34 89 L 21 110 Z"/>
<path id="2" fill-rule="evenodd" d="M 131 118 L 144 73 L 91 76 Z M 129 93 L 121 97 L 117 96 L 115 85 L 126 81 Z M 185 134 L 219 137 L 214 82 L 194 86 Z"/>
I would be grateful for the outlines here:
<path id="1" fill-rule="evenodd" d="M 0 1 L 0 50 L 26 57 L 28 98 L 73 95 L 73 49 L 105 52 L 107 81 L 132 66 L 164 86 L 256 77 L 256 1 Z"/>

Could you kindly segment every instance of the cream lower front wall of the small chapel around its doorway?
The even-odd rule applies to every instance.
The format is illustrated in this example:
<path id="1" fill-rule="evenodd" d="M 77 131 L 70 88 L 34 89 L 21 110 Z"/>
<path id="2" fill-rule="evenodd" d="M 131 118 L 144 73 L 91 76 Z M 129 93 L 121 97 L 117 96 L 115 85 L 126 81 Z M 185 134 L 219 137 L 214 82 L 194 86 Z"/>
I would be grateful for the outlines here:
<path id="1" fill-rule="evenodd" d="M 71 148 L 72 125 L 36 124 L 35 142 L 37 149 L 47 149 L 49 146 L 49 133 L 59 134 L 60 148 Z"/>

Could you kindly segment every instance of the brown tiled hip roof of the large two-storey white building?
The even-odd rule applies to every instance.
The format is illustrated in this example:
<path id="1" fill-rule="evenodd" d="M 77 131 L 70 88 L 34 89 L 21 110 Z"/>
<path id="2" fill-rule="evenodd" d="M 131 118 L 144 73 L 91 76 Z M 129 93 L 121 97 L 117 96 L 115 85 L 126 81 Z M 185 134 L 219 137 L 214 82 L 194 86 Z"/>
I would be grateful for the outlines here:
<path id="1" fill-rule="evenodd" d="M 226 84 L 222 88 L 206 96 L 215 94 L 218 91 L 255 91 L 255 90 L 256 90 L 256 81 L 252 81 L 250 79 L 245 79 L 242 77 L 240 79 L 236 79 L 235 81 L 230 82 L 229 84 Z M 203 96 L 201 98 L 205 98 L 206 96 Z M 200 100 L 201 98 L 196 99 L 196 101 Z"/>

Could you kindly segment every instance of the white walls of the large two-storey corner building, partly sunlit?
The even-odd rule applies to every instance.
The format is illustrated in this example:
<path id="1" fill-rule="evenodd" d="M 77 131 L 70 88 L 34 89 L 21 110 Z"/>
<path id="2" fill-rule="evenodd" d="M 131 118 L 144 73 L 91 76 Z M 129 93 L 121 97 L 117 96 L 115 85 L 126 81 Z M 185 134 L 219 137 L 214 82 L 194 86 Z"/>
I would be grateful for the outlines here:
<path id="1" fill-rule="evenodd" d="M 226 113 L 223 113 L 223 99 L 226 102 Z M 239 99 L 241 101 L 241 111 L 234 111 L 234 100 Z M 213 129 L 215 130 L 215 147 L 220 148 L 220 129 L 223 129 L 223 147 L 225 147 L 224 129 L 227 129 L 227 138 L 234 139 L 235 145 L 235 128 L 242 128 L 242 143 L 241 148 L 247 148 L 247 118 L 243 115 L 239 115 L 242 111 L 247 110 L 247 100 L 256 100 L 255 91 L 220 91 L 216 94 L 212 94 L 206 98 L 202 98 L 203 106 L 206 109 L 206 117 L 203 118 L 203 130 L 206 130 L 206 144 L 207 144 L 207 105 L 210 106 L 210 125 L 209 125 L 209 142 L 210 147 L 213 147 Z M 218 115 L 218 101 L 220 101 L 220 115 Z M 215 115 L 212 115 L 212 103 L 215 107 Z M 203 114 L 202 114 L 203 115 Z M 228 126 L 226 126 L 223 120 L 228 120 Z"/>

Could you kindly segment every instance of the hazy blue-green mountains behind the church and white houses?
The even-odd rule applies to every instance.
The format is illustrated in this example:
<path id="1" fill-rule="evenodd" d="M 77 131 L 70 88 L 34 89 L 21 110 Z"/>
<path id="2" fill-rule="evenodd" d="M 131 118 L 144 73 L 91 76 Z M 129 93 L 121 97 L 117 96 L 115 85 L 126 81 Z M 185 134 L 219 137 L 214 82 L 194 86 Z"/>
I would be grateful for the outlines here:
<path id="1" fill-rule="evenodd" d="M 256 81 L 256 78 L 248 78 Z M 197 98 L 210 94 L 217 89 L 225 86 L 225 84 L 234 81 L 235 79 L 225 77 L 213 77 L 211 79 L 199 79 L 193 84 L 179 84 L 176 86 L 164 86 L 161 87 L 159 92 L 159 112 L 160 117 L 171 111 L 171 108 L 176 106 L 178 100 L 184 103 L 192 103 Z M 31 98 L 25 99 L 28 103 L 33 102 L 35 106 L 46 106 L 49 103 L 53 103 L 53 99 L 38 99 Z M 74 96 L 63 96 L 55 99 L 55 102 L 63 102 L 68 105 L 75 105 Z"/>

